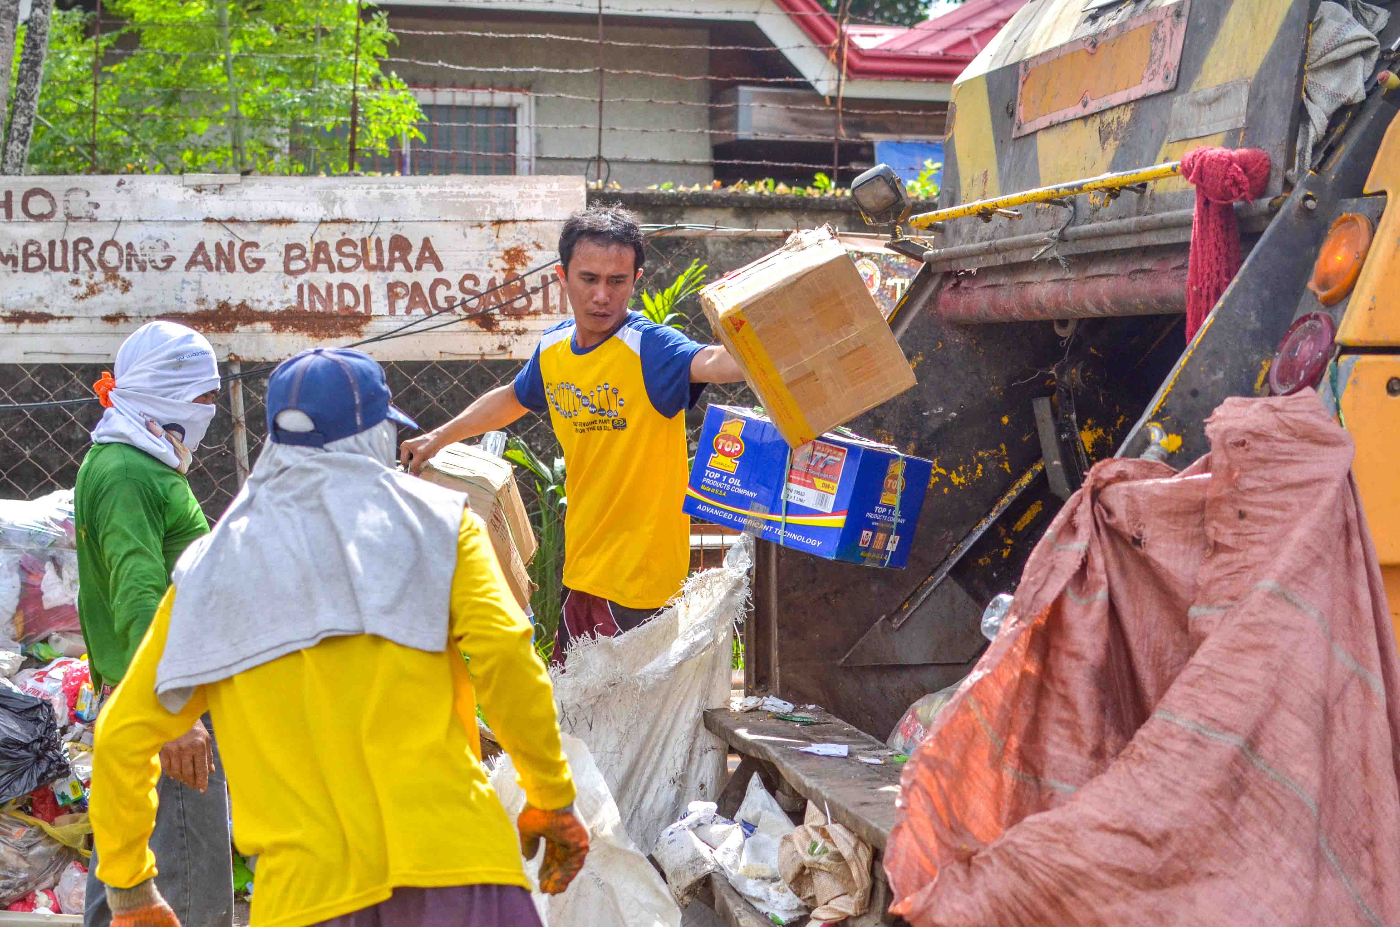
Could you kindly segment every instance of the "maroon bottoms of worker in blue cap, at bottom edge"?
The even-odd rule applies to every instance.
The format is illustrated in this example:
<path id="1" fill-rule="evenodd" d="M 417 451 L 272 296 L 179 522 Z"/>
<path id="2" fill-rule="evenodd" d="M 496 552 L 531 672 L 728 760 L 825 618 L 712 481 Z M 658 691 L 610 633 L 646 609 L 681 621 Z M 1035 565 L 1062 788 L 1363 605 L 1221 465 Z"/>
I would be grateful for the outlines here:
<path id="1" fill-rule="evenodd" d="M 389 900 L 321 921 L 321 927 L 540 927 L 519 885 L 396 888 Z"/>

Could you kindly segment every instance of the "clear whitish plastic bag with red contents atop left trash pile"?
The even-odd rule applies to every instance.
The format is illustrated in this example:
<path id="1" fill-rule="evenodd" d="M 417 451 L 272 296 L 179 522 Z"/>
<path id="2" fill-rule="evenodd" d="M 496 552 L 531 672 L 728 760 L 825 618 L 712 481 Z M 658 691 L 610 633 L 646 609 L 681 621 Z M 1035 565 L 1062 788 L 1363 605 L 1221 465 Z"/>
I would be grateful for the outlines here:
<path id="1" fill-rule="evenodd" d="M 31 644 L 81 633 L 77 595 L 73 490 L 0 500 L 0 639 Z"/>

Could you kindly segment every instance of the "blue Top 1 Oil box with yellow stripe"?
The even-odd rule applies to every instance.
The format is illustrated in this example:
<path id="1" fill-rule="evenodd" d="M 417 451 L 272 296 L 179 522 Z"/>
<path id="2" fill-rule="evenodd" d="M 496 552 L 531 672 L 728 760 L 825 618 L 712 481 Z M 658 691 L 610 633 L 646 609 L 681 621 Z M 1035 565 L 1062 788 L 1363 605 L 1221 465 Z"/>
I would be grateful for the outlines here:
<path id="1" fill-rule="evenodd" d="M 762 413 L 710 406 L 683 508 L 827 560 L 903 569 L 932 469 L 853 434 L 794 449 Z"/>

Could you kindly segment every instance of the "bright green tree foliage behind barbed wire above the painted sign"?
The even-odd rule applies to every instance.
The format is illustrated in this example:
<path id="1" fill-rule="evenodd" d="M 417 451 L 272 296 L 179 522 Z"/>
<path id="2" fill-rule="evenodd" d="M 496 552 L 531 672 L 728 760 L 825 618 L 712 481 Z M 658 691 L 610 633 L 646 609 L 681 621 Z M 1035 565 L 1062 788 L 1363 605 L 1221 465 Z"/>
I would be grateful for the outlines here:
<path id="1" fill-rule="evenodd" d="M 367 10 L 361 153 L 384 151 L 403 133 L 421 137 L 414 123 L 423 118 L 403 81 L 381 67 L 396 42 L 385 14 Z M 354 0 L 106 0 L 97 43 L 92 15 L 81 10 L 55 10 L 49 41 L 31 172 L 347 169 Z"/>

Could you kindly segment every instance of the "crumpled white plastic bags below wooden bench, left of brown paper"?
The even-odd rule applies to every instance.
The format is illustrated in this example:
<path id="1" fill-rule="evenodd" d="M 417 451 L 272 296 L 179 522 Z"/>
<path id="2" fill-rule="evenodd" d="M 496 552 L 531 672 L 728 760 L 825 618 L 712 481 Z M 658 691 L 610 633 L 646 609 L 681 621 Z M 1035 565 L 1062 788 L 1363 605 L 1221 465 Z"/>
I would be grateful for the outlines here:
<path id="1" fill-rule="evenodd" d="M 722 818 L 711 802 L 692 802 L 686 816 L 662 830 L 654 856 L 672 895 L 689 903 L 711 872 L 721 872 L 769 920 L 798 920 L 806 907 L 780 871 L 780 846 L 795 830 L 792 821 L 757 776 L 734 816 Z"/>

